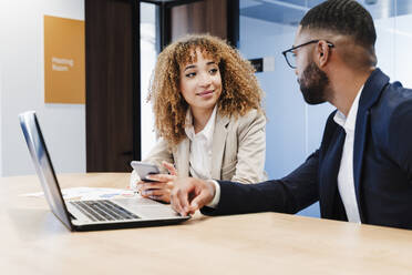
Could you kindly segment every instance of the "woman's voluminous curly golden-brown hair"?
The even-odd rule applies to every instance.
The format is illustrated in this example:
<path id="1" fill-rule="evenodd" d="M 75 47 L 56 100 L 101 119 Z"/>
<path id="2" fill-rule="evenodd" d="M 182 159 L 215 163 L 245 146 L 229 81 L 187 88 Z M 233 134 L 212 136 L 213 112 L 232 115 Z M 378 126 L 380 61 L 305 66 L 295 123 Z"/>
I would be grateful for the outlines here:
<path id="1" fill-rule="evenodd" d="M 185 138 L 188 103 L 179 91 L 181 68 L 196 62 L 193 52 L 215 61 L 222 75 L 218 113 L 238 118 L 251 109 L 262 112 L 264 92 L 255 77 L 255 69 L 239 52 L 224 40 L 208 34 L 193 34 L 167 45 L 157 57 L 147 100 L 153 104 L 155 130 L 169 146 Z"/>

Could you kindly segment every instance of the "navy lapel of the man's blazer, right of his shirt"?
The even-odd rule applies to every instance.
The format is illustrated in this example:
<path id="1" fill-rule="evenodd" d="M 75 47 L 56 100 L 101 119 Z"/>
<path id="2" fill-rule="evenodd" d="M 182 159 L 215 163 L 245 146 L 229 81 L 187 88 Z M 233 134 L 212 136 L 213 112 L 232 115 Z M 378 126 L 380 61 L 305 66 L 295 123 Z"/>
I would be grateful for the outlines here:
<path id="1" fill-rule="evenodd" d="M 364 145 L 367 142 L 369 110 L 379 100 L 382 91 L 389 83 L 389 78 L 377 69 L 369 77 L 364 83 L 361 98 L 359 100 L 359 108 L 357 114 L 357 124 L 354 129 L 354 144 L 353 144 L 353 181 L 354 191 L 357 194 L 357 202 L 361 221 L 364 222 L 364 216 L 361 207 L 360 181 L 362 175 L 362 162 Z"/>

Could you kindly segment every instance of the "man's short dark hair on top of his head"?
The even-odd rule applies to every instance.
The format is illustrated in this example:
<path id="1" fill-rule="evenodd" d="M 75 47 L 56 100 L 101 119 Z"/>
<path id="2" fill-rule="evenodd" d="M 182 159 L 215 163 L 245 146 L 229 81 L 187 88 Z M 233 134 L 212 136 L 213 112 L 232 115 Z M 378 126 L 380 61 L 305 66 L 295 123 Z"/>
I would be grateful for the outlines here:
<path id="1" fill-rule="evenodd" d="M 354 0 L 328 0 L 310 9 L 300 21 L 305 30 L 330 30 L 352 37 L 354 42 L 374 49 L 377 32 L 371 14 Z"/>

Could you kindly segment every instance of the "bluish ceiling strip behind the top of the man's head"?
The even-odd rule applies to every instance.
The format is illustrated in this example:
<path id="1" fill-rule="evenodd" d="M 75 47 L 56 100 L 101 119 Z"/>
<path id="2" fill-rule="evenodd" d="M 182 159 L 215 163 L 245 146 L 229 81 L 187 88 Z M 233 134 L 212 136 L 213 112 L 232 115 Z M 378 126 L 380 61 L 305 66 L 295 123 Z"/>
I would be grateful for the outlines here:
<path id="1" fill-rule="evenodd" d="M 240 16 L 297 26 L 306 11 L 323 0 L 240 0 Z M 411 0 L 359 0 L 374 19 L 412 13 Z"/>

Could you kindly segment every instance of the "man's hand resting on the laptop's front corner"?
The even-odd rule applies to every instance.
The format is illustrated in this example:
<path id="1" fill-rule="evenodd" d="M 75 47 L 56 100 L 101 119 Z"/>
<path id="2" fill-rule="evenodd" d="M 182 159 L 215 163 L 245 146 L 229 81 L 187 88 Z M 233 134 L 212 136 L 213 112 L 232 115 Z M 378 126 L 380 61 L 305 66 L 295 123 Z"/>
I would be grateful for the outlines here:
<path id="1" fill-rule="evenodd" d="M 215 184 L 208 181 L 195 177 L 176 180 L 171 195 L 172 207 L 182 216 L 194 214 L 213 201 L 215 192 Z"/>

